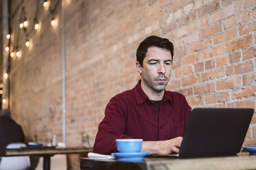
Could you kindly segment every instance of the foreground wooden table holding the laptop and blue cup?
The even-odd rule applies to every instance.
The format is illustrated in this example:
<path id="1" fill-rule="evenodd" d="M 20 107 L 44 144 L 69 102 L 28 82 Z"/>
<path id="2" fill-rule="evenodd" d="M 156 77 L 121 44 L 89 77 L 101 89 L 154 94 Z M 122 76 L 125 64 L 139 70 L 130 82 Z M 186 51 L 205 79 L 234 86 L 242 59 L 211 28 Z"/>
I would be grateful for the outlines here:
<path id="1" fill-rule="evenodd" d="M 92 169 L 256 169 L 256 156 L 242 154 L 239 156 L 223 156 L 209 158 L 173 158 L 173 157 L 145 157 L 139 162 L 124 162 L 119 160 L 91 160 L 81 158 L 80 168 Z"/>

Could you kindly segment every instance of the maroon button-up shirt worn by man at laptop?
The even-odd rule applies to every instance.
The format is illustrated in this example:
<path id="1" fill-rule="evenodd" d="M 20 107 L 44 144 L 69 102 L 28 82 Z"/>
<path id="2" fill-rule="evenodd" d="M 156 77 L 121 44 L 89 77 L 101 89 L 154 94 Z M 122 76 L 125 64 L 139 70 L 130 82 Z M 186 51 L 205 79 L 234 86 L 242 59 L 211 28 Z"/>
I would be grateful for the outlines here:
<path id="1" fill-rule="evenodd" d="M 105 117 L 98 125 L 94 152 L 117 152 L 116 138 L 162 141 L 183 136 L 190 110 L 182 94 L 167 90 L 158 110 L 139 81 L 133 89 L 116 95 L 107 104 Z"/>

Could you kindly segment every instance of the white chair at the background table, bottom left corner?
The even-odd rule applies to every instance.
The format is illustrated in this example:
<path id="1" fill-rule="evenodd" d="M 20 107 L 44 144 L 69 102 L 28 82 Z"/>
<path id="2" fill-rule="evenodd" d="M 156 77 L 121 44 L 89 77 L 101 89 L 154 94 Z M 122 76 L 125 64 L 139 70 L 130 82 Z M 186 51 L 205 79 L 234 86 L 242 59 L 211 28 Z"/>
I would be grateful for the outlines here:
<path id="1" fill-rule="evenodd" d="M 10 143 L 6 149 L 14 149 L 26 147 L 25 143 Z M 30 167 L 29 156 L 10 156 L 2 157 L 0 162 L 0 170 L 24 170 Z"/>

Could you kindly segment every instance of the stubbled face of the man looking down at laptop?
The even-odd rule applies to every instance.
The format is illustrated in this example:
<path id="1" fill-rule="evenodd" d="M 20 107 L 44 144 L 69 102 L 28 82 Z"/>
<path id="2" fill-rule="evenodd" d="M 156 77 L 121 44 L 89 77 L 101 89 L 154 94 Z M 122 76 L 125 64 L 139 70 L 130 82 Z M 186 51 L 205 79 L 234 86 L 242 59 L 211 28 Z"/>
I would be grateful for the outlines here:
<path id="1" fill-rule="evenodd" d="M 136 62 L 141 74 L 141 86 L 145 93 L 159 93 L 164 90 L 171 76 L 171 53 L 167 49 L 149 47 L 143 60 L 143 67 Z"/>

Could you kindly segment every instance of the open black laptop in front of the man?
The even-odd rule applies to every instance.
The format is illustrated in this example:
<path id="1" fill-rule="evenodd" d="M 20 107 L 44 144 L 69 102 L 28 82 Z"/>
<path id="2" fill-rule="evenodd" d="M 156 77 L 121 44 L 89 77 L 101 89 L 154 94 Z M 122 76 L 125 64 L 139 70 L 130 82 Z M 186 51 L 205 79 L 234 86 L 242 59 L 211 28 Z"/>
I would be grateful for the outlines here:
<path id="1" fill-rule="evenodd" d="M 254 110 L 250 108 L 195 108 L 186 124 L 179 154 L 227 156 L 241 150 Z"/>

